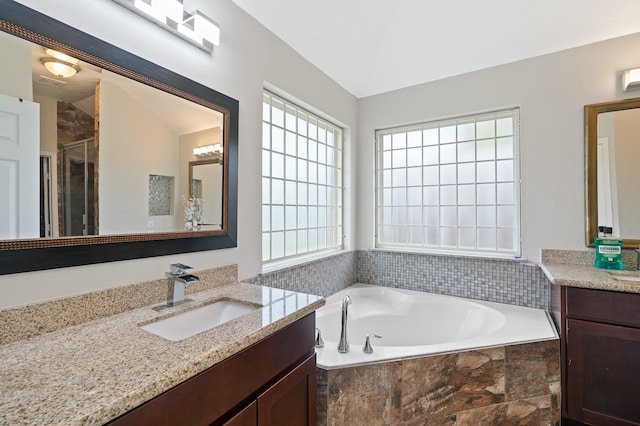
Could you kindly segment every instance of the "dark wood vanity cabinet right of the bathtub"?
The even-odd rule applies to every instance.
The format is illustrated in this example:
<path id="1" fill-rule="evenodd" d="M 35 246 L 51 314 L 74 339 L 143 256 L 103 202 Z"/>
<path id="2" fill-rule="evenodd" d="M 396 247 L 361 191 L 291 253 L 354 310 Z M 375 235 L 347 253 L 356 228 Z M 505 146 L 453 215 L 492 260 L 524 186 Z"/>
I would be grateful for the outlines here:
<path id="1" fill-rule="evenodd" d="M 575 287 L 554 292 L 563 418 L 640 425 L 640 294 Z"/>

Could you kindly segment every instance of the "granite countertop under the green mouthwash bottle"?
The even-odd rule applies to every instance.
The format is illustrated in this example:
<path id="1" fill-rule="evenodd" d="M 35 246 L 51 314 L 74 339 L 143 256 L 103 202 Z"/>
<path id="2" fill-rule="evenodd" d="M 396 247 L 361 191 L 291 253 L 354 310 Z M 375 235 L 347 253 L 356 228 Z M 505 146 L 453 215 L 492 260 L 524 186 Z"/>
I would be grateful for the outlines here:
<path id="1" fill-rule="evenodd" d="M 543 263 L 541 267 L 553 284 L 624 293 L 640 293 L 640 272 L 638 271 L 617 271 L 598 269 L 591 265 L 560 263 Z M 627 279 L 625 280 L 624 277 L 627 277 Z"/>

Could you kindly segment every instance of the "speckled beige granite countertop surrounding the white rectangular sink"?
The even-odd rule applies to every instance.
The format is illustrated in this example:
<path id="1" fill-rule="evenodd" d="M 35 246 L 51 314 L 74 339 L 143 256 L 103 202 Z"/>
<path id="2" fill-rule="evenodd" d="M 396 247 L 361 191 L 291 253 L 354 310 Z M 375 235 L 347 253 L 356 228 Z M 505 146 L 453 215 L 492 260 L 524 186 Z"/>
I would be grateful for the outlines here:
<path id="1" fill-rule="evenodd" d="M 102 424 L 324 305 L 303 293 L 236 283 L 0 346 L 0 424 Z M 210 303 L 262 306 L 171 342 L 139 327 Z"/>

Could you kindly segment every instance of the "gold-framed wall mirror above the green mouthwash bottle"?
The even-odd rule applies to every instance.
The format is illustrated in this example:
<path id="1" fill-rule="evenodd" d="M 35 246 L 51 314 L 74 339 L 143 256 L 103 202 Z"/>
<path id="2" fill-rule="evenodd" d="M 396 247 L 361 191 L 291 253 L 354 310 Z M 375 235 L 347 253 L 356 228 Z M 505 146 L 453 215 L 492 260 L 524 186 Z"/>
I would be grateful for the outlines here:
<path id="1" fill-rule="evenodd" d="M 586 243 L 611 227 L 624 248 L 640 245 L 640 98 L 586 105 Z"/>

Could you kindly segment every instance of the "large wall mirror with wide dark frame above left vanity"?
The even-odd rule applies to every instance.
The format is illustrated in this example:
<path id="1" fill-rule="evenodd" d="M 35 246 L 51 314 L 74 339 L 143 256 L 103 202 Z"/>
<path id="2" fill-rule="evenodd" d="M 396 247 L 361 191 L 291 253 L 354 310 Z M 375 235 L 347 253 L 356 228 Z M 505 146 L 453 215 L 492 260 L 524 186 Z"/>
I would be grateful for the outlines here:
<path id="1" fill-rule="evenodd" d="M 236 246 L 238 101 L 11 0 L 0 30 L 0 274 Z"/>

